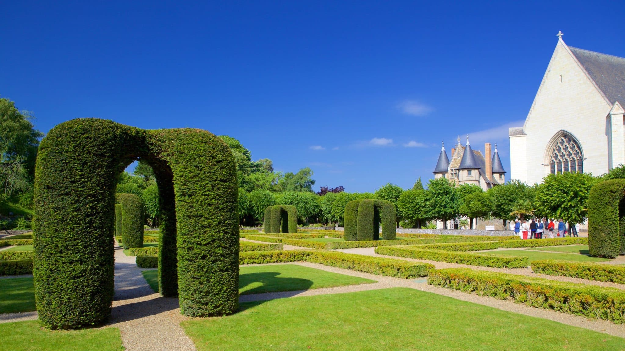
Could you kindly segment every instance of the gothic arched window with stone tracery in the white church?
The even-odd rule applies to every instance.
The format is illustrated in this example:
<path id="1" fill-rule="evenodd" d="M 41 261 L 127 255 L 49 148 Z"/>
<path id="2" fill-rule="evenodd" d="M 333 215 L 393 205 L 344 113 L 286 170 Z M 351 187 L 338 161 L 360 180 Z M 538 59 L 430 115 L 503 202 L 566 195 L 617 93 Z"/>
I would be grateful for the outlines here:
<path id="1" fill-rule="evenodd" d="M 548 155 L 551 174 L 584 172 L 582 148 L 575 138 L 567 133 L 562 132 L 551 142 Z"/>

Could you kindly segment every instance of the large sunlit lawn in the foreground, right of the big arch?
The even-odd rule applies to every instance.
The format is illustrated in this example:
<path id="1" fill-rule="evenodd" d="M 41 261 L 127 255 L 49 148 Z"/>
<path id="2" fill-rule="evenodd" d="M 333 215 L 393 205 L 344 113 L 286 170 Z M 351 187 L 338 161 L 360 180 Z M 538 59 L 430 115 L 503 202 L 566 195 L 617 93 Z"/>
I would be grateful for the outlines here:
<path id="1" fill-rule="evenodd" d="M 625 339 L 607 334 L 409 288 L 251 302 L 241 309 L 181 325 L 199 351 L 622 350 L 625 345 Z"/>

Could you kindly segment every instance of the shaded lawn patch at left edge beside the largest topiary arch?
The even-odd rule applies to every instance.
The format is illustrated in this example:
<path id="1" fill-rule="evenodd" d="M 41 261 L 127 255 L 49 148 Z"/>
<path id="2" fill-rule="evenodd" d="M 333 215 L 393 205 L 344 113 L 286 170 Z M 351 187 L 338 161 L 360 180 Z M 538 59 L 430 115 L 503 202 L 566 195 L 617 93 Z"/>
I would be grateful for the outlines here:
<path id="1" fill-rule="evenodd" d="M 35 309 L 35 289 L 32 285 L 32 277 L 0 279 L 0 314 L 28 312 Z M 0 330 L 2 326 L 4 324 L 0 325 Z"/>

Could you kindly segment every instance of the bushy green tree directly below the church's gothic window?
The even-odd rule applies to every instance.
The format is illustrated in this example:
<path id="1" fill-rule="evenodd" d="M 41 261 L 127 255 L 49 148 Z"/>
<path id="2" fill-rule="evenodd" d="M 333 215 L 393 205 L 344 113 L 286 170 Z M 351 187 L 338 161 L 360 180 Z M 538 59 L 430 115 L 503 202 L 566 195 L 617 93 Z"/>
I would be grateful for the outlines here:
<path id="1" fill-rule="evenodd" d="M 618 174 L 614 172 L 612 176 Z M 587 173 L 549 174 L 538 185 L 536 209 L 551 218 L 561 218 L 569 224 L 586 220 L 588 194 L 599 179 Z"/>

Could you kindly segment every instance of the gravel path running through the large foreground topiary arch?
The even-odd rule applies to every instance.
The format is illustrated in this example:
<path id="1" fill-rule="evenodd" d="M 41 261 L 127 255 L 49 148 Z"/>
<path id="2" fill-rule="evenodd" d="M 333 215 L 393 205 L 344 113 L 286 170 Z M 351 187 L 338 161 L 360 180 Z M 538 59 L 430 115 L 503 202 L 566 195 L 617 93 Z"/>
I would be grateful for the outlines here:
<path id="1" fill-rule="evenodd" d="M 178 299 L 155 294 L 134 262 L 115 247 L 115 297 L 109 326 L 121 330 L 126 350 L 195 350 L 180 322 Z"/>

